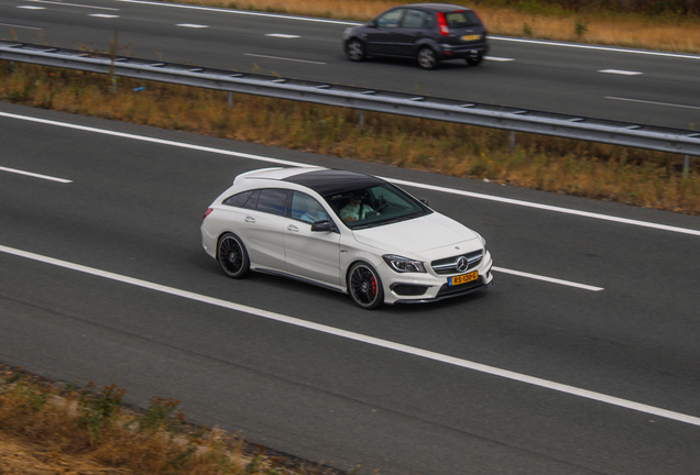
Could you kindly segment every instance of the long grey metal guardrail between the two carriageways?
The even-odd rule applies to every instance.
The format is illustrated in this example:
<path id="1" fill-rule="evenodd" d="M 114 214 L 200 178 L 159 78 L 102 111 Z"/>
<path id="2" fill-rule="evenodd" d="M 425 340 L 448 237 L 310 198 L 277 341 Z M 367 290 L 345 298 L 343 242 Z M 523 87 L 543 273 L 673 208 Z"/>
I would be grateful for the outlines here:
<path id="1" fill-rule="evenodd" d="M 700 133 L 0 41 L 0 59 L 700 156 Z"/>

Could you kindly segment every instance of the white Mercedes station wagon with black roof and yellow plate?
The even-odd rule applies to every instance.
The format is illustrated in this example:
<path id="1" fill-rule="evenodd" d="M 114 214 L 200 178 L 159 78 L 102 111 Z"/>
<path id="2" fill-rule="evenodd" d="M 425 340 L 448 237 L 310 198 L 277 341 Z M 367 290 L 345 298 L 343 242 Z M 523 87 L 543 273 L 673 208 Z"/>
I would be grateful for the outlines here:
<path id="1" fill-rule="evenodd" d="M 229 277 L 251 269 L 292 277 L 350 294 L 363 309 L 462 296 L 493 283 L 479 233 L 354 172 L 239 175 L 207 209 L 201 242 Z"/>

